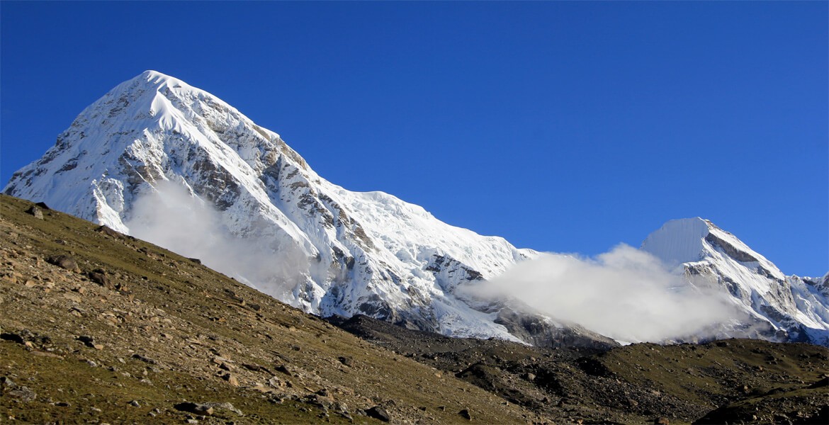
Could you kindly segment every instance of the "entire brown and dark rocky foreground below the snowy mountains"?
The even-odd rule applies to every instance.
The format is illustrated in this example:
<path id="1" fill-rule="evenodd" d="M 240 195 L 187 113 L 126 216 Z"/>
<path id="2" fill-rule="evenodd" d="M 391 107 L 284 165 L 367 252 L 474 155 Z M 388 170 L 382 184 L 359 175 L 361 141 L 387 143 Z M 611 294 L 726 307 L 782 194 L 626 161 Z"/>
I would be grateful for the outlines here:
<path id="1" fill-rule="evenodd" d="M 354 336 L 195 258 L 33 207 L 0 196 L 3 423 L 829 419 L 825 347 L 545 349 L 332 319 Z"/>

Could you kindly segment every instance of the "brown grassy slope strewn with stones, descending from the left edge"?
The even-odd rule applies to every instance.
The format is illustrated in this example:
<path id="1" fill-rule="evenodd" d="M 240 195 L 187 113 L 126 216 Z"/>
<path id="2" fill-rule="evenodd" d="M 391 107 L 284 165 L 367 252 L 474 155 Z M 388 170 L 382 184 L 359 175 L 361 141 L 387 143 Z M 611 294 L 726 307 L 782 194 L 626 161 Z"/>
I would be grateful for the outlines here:
<path id="1" fill-rule="evenodd" d="M 0 196 L 2 423 L 546 420 L 190 259 L 55 210 L 41 220 L 32 205 Z"/>

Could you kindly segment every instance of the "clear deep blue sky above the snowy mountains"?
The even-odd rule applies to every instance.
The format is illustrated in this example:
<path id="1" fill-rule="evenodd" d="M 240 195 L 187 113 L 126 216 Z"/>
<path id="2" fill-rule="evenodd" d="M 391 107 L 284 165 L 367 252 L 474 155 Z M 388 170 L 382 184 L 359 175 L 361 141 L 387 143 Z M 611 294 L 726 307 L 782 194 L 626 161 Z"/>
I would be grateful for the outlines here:
<path id="1" fill-rule="evenodd" d="M 702 216 L 829 270 L 827 2 L 0 3 L 0 177 L 158 70 L 318 173 L 520 247 Z"/>

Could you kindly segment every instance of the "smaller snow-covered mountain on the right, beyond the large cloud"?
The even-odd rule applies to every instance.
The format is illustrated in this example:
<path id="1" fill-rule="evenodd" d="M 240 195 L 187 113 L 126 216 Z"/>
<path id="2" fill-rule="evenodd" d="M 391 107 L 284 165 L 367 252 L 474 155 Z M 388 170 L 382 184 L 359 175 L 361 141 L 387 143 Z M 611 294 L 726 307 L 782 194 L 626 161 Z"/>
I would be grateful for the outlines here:
<path id="1" fill-rule="evenodd" d="M 748 317 L 732 324 L 730 335 L 829 345 L 829 273 L 786 276 L 733 234 L 701 218 L 667 222 L 641 249 L 695 285 L 727 291 Z"/>

